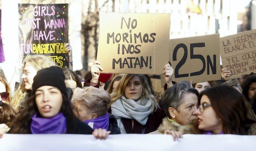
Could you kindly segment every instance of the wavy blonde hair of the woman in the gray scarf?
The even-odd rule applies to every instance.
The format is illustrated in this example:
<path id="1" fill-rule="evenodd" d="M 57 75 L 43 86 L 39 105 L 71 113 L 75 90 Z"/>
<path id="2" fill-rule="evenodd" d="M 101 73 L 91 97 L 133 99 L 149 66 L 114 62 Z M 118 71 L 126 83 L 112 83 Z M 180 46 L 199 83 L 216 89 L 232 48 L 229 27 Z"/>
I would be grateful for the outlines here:
<path id="1" fill-rule="evenodd" d="M 152 112 L 157 109 L 157 101 L 153 94 L 151 94 L 151 91 L 148 87 L 148 81 L 146 77 L 143 74 L 124 74 L 124 76 L 121 78 L 119 84 L 114 89 L 114 92 L 110 94 L 111 96 L 111 104 L 114 103 L 117 99 L 121 98 L 121 96 L 124 94 L 124 89 L 127 85 L 127 83 L 135 76 L 138 76 L 140 78 L 140 82 L 142 84 L 142 96 L 141 96 L 141 103 L 146 104 L 146 102 L 151 99 L 152 100 Z"/>

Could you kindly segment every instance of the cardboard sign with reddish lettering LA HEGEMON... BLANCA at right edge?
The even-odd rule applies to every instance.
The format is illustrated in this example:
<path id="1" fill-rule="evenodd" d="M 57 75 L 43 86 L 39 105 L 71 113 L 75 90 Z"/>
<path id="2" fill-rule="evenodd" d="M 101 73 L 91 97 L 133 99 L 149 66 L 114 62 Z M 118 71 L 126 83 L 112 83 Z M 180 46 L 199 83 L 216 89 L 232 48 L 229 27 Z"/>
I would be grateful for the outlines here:
<path id="1" fill-rule="evenodd" d="M 256 72 L 256 29 L 220 38 L 220 56 L 227 79 Z"/>

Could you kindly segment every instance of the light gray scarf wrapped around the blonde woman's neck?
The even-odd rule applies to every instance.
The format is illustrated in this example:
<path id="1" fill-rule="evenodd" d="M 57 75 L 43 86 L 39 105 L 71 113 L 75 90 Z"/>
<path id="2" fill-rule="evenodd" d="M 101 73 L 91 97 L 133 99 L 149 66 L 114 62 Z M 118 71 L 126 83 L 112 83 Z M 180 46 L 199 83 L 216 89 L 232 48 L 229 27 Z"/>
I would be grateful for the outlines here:
<path id="1" fill-rule="evenodd" d="M 134 119 L 141 125 L 146 125 L 148 115 L 152 111 L 152 100 L 149 99 L 146 104 L 141 104 L 141 100 L 135 102 L 127 99 L 124 95 L 117 99 L 111 105 L 111 113 L 116 117 L 117 124 L 121 130 L 121 134 L 126 134 L 121 118 Z"/>

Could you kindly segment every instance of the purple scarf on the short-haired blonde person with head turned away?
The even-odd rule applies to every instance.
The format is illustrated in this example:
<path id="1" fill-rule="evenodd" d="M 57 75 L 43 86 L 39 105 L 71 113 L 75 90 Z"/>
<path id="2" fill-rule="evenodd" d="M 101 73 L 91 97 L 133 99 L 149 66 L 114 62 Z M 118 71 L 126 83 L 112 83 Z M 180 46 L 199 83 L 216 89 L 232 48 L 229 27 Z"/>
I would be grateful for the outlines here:
<path id="1" fill-rule="evenodd" d="M 90 127 L 92 127 L 93 130 L 96 128 L 102 128 L 102 129 L 106 129 L 108 131 L 108 125 L 109 125 L 108 119 L 109 119 L 109 116 L 107 113 L 101 117 L 86 120 L 86 121 L 84 121 L 84 123 L 86 123 Z"/>

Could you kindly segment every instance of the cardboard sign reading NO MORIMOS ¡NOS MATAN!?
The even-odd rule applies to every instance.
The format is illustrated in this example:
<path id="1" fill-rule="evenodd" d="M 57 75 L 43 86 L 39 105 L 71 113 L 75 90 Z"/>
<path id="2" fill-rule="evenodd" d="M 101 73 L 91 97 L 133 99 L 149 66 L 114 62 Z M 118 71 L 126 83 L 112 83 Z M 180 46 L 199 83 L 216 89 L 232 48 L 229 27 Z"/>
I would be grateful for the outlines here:
<path id="1" fill-rule="evenodd" d="M 97 60 L 105 73 L 162 74 L 170 14 L 100 12 Z"/>

